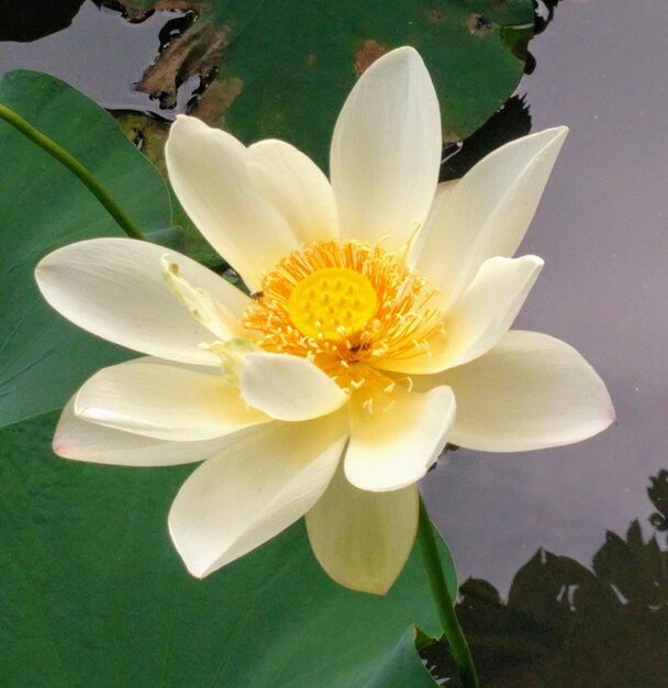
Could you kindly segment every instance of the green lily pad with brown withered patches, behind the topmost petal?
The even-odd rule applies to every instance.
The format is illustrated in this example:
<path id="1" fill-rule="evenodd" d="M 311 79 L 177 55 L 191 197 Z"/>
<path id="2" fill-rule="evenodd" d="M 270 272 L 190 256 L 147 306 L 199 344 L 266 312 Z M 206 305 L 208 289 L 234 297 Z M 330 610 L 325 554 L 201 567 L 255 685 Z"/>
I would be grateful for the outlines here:
<path id="1" fill-rule="evenodd" d="M 114 4 L 119 4 L 114 0 Z M 442 103 L 446 140 L 465 138 L 515 89 L 532 36 L 531 0 L 124 0 L 199 11 L 137 88 L 166 103 L 198 75 L 208 88 L 192 108 L 242 141 L 278 137 L 323 168 L 336 115 L 355 79 L 399 45 L 415 46 Z"/>

